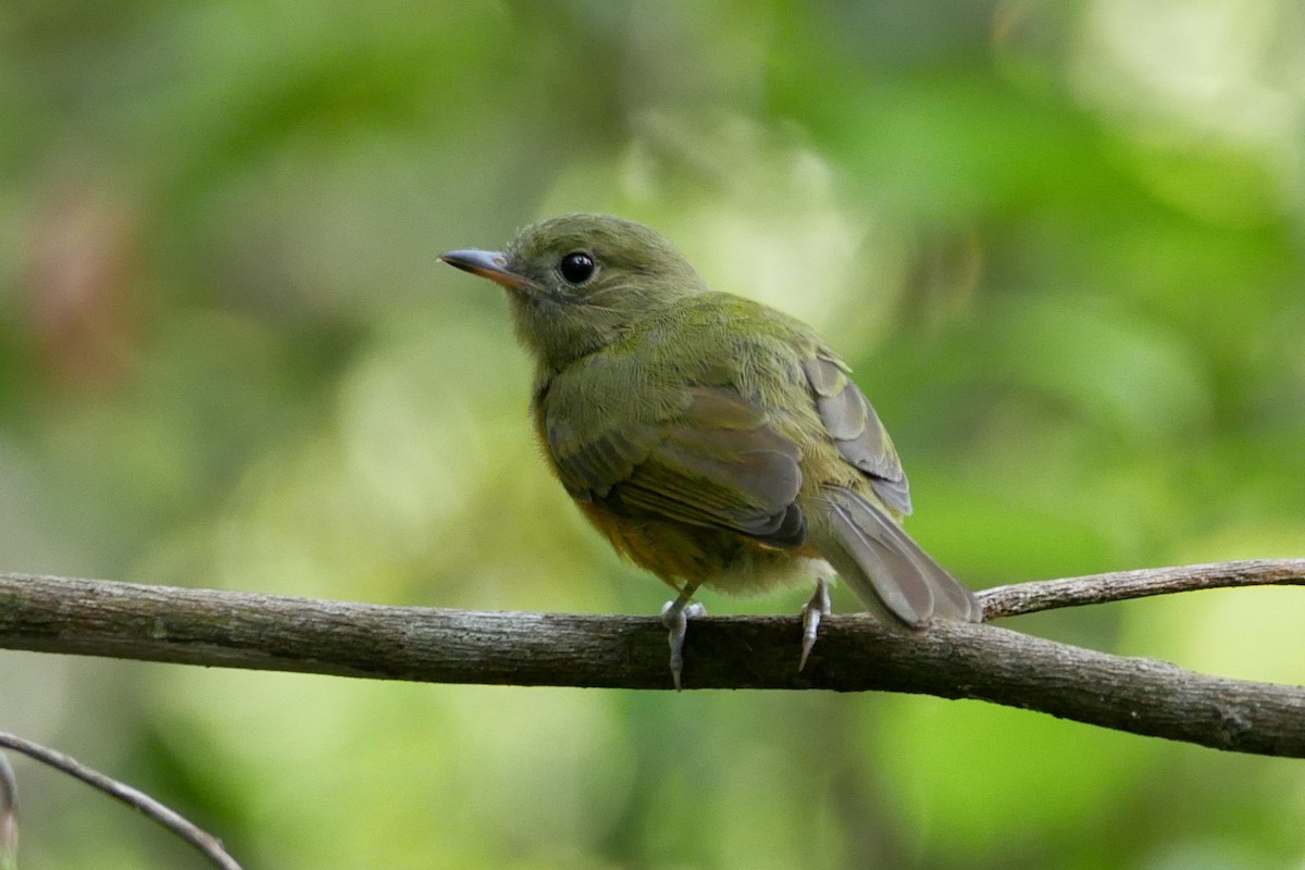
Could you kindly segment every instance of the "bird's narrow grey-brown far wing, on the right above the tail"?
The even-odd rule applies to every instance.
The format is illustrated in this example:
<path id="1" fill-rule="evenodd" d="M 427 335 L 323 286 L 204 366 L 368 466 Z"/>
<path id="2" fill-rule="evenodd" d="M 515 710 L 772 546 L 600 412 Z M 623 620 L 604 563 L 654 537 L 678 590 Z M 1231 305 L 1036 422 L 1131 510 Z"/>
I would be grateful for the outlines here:
<path id="1" fill-rule="evenodd" d="M 803 370 L 816 393 L 816 408 L 825 430 L 843 459 L 865 472 L 883 503 L 910 514 L 911 485 L 902 471 L 902 460 L 880 415 L 848 377 L 847 367 L 834 356 L 817 355 L 803 363 Z"/>

